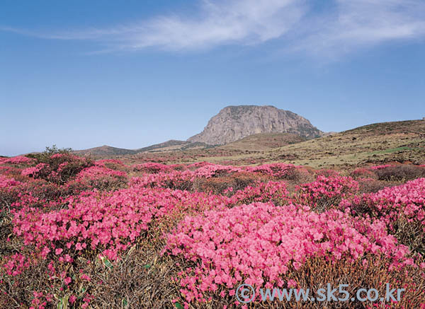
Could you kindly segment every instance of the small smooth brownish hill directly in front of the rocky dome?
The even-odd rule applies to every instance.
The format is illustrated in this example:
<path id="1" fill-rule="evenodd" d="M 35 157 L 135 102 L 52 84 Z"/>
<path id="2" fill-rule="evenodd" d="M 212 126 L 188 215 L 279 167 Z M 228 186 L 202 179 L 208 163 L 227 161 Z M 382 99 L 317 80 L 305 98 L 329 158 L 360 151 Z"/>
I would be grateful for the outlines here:
<path id="1" fill-rule="evenodd" d="M 220 148 L 240 151 L 266 151 L 305 140 L 305 137 L 292 133 L 259 133 L 246 136 L 243 139 L 220 146 Z"/>

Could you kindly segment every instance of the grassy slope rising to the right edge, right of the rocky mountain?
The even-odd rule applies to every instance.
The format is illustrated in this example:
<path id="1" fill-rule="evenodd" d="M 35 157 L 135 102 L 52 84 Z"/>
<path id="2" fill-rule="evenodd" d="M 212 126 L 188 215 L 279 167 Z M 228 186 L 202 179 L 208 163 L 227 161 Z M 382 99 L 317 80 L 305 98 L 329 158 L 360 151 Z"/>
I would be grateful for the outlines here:
<path id="1" fill-rule="evenodd" d="M 367 163 L 425 162 L 425 121 L 409 120 L 368 124 L 319 139 L 265 152 L 268 161 L 313 167 Z"/>

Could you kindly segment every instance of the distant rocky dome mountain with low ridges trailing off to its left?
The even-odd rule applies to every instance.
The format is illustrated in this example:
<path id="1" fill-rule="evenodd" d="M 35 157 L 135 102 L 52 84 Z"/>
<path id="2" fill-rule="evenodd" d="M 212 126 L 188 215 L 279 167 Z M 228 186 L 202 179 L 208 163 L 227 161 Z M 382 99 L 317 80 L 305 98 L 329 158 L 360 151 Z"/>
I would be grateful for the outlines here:
<path id="1" fill-rule="evenodd" d="M 266 150 L 323 135 L 324 133 L 313 127 L 310 121 L 294 112 L 279 110 L 273 106 L 239 105 L 220 110 L 210 119 L 203 132 L 192 136 L 187 141 L 171 139 L 138 149 L 103 145 L 74 151 L 74 153 L 81 156 L 127 156 L 148 152 L 202 150 L 233 142 L 237 144 L 229 145 L 227 149 L 259 151 L 259 147 Z M 251 137 L 244 139 L 247 136 Z"/>

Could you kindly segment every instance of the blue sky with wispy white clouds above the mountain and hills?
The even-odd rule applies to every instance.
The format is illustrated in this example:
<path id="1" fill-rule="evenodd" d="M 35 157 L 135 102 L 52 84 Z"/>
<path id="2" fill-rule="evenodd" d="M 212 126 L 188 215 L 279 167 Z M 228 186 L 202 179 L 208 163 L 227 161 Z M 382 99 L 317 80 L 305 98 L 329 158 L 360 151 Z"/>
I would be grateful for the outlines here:
<path id="1" fill-rule="evenodd" d="M 227 105 L 419 119 L 424 55 L 423 0 L 5 0 L 0 154 L 187 139 Z"/>

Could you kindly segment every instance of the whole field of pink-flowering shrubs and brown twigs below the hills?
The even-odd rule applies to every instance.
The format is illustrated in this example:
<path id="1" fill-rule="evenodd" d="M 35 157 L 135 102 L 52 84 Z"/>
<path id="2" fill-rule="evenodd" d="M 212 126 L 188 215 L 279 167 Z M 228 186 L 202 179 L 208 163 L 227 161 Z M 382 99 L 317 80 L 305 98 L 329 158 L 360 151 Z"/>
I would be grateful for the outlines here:
<path id="1" fill-rule="evenodd" d="M 0 308 L 425 308 L 425 167 L 0 158 Z M 240 284 L 399 302 L 242 304 Z"/>

